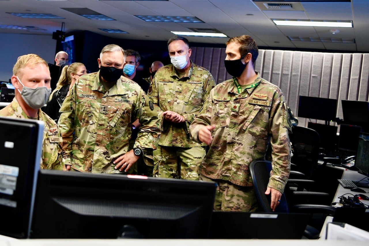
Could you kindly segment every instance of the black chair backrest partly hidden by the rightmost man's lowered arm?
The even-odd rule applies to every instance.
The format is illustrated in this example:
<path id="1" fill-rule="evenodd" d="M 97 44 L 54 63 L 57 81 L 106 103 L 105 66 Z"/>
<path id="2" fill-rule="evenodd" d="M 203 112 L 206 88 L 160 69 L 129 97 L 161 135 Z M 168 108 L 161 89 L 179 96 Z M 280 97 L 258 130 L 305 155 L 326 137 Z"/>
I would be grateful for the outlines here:
<path id="1" fill-rule="evenodd" d="M 265 191 L 268 188 L 270 171 L 272 171 L 272 163 L 265 160 L 256 160 L 250 163 L 249 168 L 259 208 L 265 212 L 272 212 L 270 208 L 270 194 L 268 196 L 265 195 Z M 286 195 L 282 194 L 280 200 L 275 212 L 289 212 Z"/>

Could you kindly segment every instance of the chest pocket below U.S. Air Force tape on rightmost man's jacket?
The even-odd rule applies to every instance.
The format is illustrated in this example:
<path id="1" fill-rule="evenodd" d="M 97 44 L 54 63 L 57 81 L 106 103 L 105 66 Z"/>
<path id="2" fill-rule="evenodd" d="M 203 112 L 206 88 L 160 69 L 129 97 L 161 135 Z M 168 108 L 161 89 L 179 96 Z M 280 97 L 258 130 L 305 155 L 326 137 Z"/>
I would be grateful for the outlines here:
<path id="1" fill-rule="evenodd" d="M 242 126 L 242 129 L 257 139 L 266 139 L 268 136 L 269 113 L 263 107 L 255 105 L 251 114 Z"/>

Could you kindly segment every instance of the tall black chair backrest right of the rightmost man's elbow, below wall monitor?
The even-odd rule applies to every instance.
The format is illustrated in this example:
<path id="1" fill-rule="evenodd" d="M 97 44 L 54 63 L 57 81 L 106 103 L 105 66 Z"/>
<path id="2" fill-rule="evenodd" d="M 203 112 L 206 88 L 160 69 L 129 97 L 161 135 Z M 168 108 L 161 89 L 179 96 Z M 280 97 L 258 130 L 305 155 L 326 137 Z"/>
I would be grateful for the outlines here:
<path id="1" fill-rule="evenodd" d="M 319 134 L 313 129 L 295 126 L 290 141 L 293 153 L 291 162 L 297 165 L 297 171 L 303 172 L 307 179 L 312 179 L 319 158 Z"/>

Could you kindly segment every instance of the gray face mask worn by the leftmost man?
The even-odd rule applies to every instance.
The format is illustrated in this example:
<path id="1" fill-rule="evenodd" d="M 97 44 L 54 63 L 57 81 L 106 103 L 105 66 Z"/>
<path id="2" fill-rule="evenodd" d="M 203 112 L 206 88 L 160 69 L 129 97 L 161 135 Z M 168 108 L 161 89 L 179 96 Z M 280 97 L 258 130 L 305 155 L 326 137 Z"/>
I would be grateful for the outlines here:
<path id="1" fill-rule="evenodd" d="M 17 79 L 21 85 L 23 85 L 18 76 Z M 44 106 L 51 94 L 51 88 L 47 88 L 46 86 L 30 88 L 23 85 L 22 91 L 19 89 L 18 91 L 21 93 L 24 102 L 27 103 L 32 109 L 40 109 L 42 106 Z"/>

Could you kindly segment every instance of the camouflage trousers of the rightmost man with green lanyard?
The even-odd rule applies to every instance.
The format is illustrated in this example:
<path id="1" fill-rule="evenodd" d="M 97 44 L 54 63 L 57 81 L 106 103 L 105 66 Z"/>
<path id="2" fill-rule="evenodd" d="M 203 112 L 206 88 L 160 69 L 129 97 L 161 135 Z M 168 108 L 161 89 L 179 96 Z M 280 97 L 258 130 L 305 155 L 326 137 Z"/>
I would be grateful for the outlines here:
<path id="1" fill-rule="evenodd" d="M 214 210 L 255 212 L 258 209 L 254 187 L 244 187 L 225 180 L 212 180 L 200 175 L 200 180 L 217 183 Z"/>

